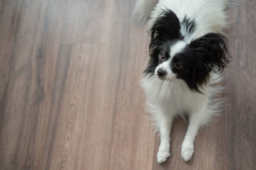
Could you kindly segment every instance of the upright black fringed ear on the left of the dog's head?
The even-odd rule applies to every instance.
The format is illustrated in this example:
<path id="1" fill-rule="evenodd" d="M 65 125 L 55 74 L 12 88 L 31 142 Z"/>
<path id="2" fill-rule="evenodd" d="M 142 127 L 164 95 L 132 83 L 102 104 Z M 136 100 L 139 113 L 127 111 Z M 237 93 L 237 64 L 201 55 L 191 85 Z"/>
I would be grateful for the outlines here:
<path id="1" fill-rule="evenodd" d="M 164 10 L 155 20 L 150 29 L 151 41 L 149 44 L 150 55 L 158 55 L 157 47 L 165 41 L 180 38 L 179 18 L 172 10 Z"/>

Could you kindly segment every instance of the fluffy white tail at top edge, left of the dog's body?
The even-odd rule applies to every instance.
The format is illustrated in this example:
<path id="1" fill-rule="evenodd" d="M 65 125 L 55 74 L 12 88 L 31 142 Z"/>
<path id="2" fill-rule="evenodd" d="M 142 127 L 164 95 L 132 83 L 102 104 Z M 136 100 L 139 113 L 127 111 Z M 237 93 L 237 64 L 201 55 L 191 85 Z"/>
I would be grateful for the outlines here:
<path id="1" fill-rule="evenodd" d="M 138 24 L 144 24 L 147 21 L 150 11 L 156 5 L 158 0 L 137 0 L 133 17 Z"/>

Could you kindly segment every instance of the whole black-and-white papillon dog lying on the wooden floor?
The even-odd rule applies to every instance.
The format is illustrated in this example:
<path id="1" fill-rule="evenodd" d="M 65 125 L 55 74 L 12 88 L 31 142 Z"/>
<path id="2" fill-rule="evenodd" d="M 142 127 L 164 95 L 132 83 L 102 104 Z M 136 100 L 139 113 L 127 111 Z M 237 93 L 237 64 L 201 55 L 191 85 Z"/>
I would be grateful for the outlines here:
<path id="1" fill-rule="evenodd" d="M 191 159 L 198 129 L 218 113 L 219 76 L 231 60 L 227 38 L 228 0 L 139 0 L 138 22 L 150 27 L 148 64 L 141 87 L 159 131 L 157 162 L 170 157 L 173 118 L 188 115 L 181 157 Z"/>

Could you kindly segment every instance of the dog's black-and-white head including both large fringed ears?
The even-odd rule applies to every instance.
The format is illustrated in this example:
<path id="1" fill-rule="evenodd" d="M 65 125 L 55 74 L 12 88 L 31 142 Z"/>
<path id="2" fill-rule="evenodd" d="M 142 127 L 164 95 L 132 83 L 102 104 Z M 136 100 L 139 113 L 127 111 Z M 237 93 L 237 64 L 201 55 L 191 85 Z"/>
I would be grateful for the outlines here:
<path id="1" fill-rule="evenodd" d="M 195 22 L 189 20 L 180 24 L 173 11 L 159 15 L 150 32 L 150 60 L 144 72 L 163 81 L 184 80 L 189 89 L 199 92 L 198 87 L 207 83 L 211 71 L 223 71 L 230 57 L 225 37 L 209 33 L 188 44 L 184 36 L 191 36 L 195 27 Z"/>

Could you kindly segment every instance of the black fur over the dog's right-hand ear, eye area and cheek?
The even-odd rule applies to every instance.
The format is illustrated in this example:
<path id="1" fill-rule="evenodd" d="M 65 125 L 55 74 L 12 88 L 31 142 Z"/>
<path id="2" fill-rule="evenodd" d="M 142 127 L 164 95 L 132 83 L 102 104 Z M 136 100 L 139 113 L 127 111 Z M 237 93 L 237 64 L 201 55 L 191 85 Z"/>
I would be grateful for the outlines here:
<path id="1" fill-rule="evenodd" d="M 171 67 L 189 89 L 200 92 L 198 88 L 209 80 L 210 72 L 221 73 L 230 59 L 225 37 L 209 33 L 191 41 L 183 52 L 175 55 Z M 182 62 L 182 69 L 175 68 L 176 62 Z"/>

